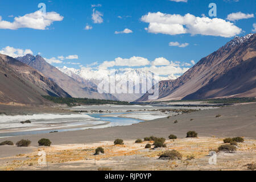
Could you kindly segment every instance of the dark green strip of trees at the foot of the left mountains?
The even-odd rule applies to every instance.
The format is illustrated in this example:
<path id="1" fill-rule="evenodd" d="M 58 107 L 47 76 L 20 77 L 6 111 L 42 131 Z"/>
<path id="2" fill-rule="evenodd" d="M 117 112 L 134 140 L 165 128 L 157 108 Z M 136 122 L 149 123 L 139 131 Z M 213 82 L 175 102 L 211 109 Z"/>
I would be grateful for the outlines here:
<path id="1" fill-rule="evenodd" d="M 52 97 L 43 96 L 49 101 L 57 104 L 67 104 L 68 106 L 80 106 L 80 105 L 102 105 L 102 104 L 115 104 L 115 105 L 131 105 L 125 101 L 112 101 L 112 100 L 100 100 L 92 98 L 63 98 L 63 97 Z"/>

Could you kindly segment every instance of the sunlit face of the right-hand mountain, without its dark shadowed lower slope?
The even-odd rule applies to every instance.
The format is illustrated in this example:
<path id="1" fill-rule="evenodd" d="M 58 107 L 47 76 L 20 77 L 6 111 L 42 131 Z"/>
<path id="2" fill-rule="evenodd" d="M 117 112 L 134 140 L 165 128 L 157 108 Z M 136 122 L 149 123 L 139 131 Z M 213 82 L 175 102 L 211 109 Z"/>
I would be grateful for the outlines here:
<path id="1" fill-rule="evenodd" d="M 200 97 L 198 95 L 195 96 L 195 94 L 192 97 L 191 94 L 218 80 L 230 69 L 233 69 L 237 65 L 241 64 L 242 61 L 252 59 L 251 65 L 247 65 L 248 67 L 255 64 L 255 40 L 255 34 L 248 34 L 241 38 L 236 37 L 233 40 L 230 40 L 230 42 L 226 43 L 225 46 L 219 48 L 217 51 L 203 57 L 203 59 L 201 59 L 197 64 L 195 64 L 191 69 L 176 80 L 160 81 L 158 101 L 181 100 L 188 98 L 211 98 L 214 94 L 209 94 L 209 96 L 205 97 Z M 253 76 L 255 80 L 255 75 L 253 75 L 253 73 L 254 71 L 251 73 L 251 76 Z M 250 84 L 254 84 L 253 81 Z M 208 86 L 208 88 L 210 87 Z M 227 93 L 228 92 L 226 92 L 226 94 L 223 96 L 228 96 Z M 148 93 L 144 94 L 136 101 L 148 101 L 148 95 Z M 191 96 L 186 98 L 188 95 Z M 253 94 L 250 94 L 250 96 L 251 95 Z M 216 97 L 222 97 L 222 95 L 217 94 Z"/>

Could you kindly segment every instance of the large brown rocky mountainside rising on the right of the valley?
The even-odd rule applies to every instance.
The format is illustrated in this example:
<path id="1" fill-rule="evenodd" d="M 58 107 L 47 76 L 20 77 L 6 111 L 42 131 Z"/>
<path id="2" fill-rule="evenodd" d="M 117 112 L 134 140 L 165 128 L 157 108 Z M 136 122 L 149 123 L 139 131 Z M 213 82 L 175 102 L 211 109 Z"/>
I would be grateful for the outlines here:
<path id="1" fill-rule="evenodd" d="M 160 81 L 158 100 L 256 97 L 255 40 L 256 34 L 236 37 L 176 80 Z"/>

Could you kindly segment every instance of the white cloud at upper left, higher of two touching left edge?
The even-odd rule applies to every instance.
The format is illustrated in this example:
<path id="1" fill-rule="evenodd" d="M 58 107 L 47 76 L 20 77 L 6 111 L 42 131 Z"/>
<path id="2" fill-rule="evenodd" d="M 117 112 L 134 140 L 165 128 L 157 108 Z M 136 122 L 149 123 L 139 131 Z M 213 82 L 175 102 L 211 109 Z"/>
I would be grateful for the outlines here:
<path id="1" fill-rule="evenodd" d="M 0 29 L 16 30 L 18 28 L 33 28 L 37 30 L 46 30 L 53 22 L 63 20 L 63 16 L 55 12 L 43 14 L 42 11 L 18 16 L 14 18 L 14 22 L 2 20 L 0 16 Z"/>

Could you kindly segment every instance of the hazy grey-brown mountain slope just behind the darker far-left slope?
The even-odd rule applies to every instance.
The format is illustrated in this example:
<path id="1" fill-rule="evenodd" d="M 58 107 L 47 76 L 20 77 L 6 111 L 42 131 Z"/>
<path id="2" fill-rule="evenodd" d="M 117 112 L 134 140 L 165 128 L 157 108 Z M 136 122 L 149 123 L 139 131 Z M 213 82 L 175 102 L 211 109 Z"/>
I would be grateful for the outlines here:
<path id="1" fill-rule="evenodd" d="M 74 78 L 69 77 L 59 69 L 47 63 L 43 57 L 37 55 L 26 55 L 17 57 L 19 61 L 30 65 L 30 67 L 42 72 L 46 77 L 56 82 L 63 90 L 69 93 L 72 97 L 76 98 L 98 98 L 106 100 L 117 100 L 112 94 L 100 94 L 96 86 L 92 86 L 86 81 L 76 81 Z"/>

